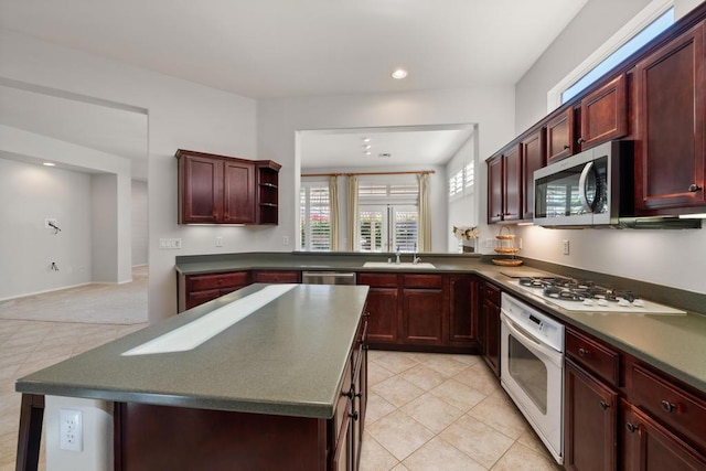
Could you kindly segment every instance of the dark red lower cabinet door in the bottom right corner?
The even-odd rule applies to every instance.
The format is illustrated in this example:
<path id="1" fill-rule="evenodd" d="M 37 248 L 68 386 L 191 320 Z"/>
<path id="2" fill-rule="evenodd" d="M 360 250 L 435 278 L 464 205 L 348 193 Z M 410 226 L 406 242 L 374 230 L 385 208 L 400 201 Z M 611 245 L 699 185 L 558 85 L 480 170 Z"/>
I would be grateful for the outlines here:
<path id="1" fill-rule="evenodd" d="M 704 470 L 706 458 L 668 429 L 621 402 L 622 467 L 625 471 Z"/>

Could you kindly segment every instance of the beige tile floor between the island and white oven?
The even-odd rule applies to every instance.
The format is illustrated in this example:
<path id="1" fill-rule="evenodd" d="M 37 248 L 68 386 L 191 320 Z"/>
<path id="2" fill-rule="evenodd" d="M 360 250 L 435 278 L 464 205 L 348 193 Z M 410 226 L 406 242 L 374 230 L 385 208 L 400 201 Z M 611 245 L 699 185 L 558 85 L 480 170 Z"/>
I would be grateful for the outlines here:
<path id="1" fill-rule="evenodd" d="M 361 471 L 557 470 L 478 356 L 370 351 Z"/>

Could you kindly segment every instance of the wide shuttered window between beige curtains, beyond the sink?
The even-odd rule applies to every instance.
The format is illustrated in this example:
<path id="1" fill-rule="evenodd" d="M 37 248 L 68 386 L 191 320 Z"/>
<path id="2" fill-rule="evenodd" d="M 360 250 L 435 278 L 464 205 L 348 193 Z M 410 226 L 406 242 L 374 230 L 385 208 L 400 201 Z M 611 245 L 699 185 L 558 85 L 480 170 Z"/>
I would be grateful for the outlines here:
<path id="1" fill-rule="evenodd" d="M 417 245 L 419 184 L 359 182 L 361 251 L 414 251 Z"/>

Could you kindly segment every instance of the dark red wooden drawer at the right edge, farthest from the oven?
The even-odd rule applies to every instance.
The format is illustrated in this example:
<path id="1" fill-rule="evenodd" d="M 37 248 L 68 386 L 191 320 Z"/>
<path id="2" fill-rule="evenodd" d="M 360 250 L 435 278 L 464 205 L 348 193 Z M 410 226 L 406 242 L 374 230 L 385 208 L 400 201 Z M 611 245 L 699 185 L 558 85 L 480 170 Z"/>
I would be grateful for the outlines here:
<path id="1" fill-rule="evenodd" d="M 706 449 L 706 402 L 637 363 L 628 376 L 630 403 Z"/>

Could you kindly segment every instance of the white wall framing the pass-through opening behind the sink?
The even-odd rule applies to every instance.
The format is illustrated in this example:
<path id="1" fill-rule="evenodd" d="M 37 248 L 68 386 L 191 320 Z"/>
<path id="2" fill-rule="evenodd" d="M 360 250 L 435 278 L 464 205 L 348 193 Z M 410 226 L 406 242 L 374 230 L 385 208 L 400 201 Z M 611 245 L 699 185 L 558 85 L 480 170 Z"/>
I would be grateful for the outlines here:
<path id="1" fill-rule="evenodd" d="M 424 126 L 474 122 L 479 125 L 481 154 L 490 156 L 514 137 L 514 94 L 512 87 L 489 86 L 473 89 L 418 93 L 302 97 L 258 101 L 258 149 L 260 158 L 282 164 L 280 173 L 279 223 L 282 233 L 295 240 L 299 191 L 299 161 L 296 132 L 299 130 L 344 129 L 384 126 Z M 441 172 L 439 172 L 441 174 Z M 485 192 L 485 167 L 478 173 L 479 191 Z M 439 185 L 440 186 L 440 185 Z M 446 199 L 435 204 L 443 208 Z M 442 211 L 442 210 L 441 210 Z M 432 235 L 450 231 L 448 221 Z M 485 228 L 485 231 L 490 229 Z M 442 235 L 441 240 L 447 236 Z M 281 246 L 281 237 L 268 240 Z"/>

